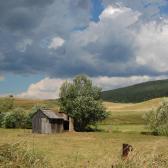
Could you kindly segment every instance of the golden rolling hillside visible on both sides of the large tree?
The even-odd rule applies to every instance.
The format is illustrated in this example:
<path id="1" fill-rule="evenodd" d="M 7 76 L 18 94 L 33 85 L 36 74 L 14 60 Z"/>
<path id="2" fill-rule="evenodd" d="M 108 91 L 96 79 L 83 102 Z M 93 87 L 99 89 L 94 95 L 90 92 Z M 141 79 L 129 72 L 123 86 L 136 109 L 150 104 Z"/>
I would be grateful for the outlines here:
<path id="1" fill-rule="evenodd" d="M 103 102 L 107 111 L 109 112 L 109 117 L 104 120 L 101 125 L 123 125 L 126 124 L 144 124 L 143 115 L 150 111 L 151 109 L 157 108 L 162 101 L 162 98 L 152 99 L 149 101 L 141 103 L 113 103 L 113 102 Z M 26 111 L 32 111 L 33 106 L 42 105 L 48 107 L 52 110 L 58 110 L 59 105 L 57 100 L 31 100 L 31 99 L 14 99 L 14 104 L 17 107 L 24 108 Z M 137 128 L 137 126 L 135 126 Z M 104 126 L 103 126 L 103 129 Z"/>

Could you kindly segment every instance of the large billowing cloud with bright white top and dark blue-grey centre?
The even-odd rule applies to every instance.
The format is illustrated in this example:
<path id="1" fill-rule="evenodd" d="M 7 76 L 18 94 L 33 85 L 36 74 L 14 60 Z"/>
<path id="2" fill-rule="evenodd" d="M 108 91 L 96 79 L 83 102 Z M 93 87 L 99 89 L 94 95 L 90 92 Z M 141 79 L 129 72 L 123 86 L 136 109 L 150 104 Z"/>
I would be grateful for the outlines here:
<path id="1" fill-rule="evenodd" d="M 70 69 L 75 73 L 112 76 L 125 72 L 133 65 L 136 34 L 131 27 L 139 16 L 130 8 L 107 7 L 99 22 L 90 22 L 86 29 L 71 33 L 65 48 L 68 59 L 63 61 L 68 60 L 68 66 L 74 63 Z"/>

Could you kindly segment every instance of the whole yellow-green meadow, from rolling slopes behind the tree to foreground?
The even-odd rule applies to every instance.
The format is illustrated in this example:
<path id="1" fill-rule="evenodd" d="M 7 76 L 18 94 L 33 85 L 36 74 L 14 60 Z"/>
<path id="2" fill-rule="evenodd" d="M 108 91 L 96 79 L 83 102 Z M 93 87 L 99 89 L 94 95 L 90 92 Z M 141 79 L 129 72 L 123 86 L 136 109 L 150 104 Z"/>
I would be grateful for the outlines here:
<path id="1" fill-rule="evenodd" d="M 158 107 L 160 101 L 154 99 L 137 104 L 104 102 L 110 115 L 98 124 L 97 132 L 42 135 L 32 134 L 28 129 L 0 129 L 0 145 L 17 142 L 24 144 L 40 152 L 54 168 L 110 168 L 121 161 L 122 144 L 128 143 L 134 148 L 133 165 L 129 165 L 130 168 L 166 168 L 168 139 L 150 135 L 143 120 L 143 115 Z M 34 104 L 58 108 L 53 101 L 20 99 L 15 103 L 27 109 Z"/>

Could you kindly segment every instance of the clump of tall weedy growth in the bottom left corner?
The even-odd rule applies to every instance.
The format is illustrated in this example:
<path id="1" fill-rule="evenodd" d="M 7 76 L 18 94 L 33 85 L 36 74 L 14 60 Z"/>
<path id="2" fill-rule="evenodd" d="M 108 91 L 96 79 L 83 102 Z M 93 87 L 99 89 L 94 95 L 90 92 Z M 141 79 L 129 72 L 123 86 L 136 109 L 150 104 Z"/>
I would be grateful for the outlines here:
<path id="1" fill-rule="evenodd" d="M 38 153 L 23 148 L 19 143 L 0 146 L 0 167 L 49 168 L 49 163 Z"/>

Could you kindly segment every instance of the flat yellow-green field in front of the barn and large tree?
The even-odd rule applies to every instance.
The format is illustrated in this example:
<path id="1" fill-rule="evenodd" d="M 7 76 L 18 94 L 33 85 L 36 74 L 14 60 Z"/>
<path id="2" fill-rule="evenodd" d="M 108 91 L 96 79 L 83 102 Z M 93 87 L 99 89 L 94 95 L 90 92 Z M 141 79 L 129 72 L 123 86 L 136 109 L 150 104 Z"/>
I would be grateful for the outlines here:
<path id="1" fill-rule="evenodd" d="M 134 151 L 138 153 L 138 157 L 144 159 L 168 154 L 166 137 L 147 136 L 133 132 L 38 135 L 32 134 L 30 130 L 0 129 L 0 137 L 0 144 L 26 142 L 30 148 L 47 157 L 54 168 L 111 167 L 120 160 L 123 143 L 131 144 Z"/>

